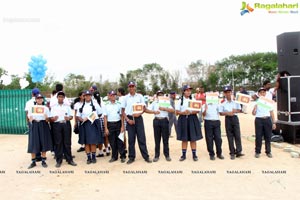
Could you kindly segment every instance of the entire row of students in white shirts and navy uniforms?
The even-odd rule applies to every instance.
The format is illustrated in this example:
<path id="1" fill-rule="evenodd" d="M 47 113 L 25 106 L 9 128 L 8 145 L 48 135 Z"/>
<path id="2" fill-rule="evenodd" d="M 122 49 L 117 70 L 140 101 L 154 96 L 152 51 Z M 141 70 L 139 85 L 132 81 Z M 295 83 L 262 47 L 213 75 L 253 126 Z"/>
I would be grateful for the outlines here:
<path id="1" fill-rule="evenodd" d="M 63 157 L 68 164 L 76 166 L 71 153 L 71 123 L 73 114 L 65 93 L 62 91 L 62 85 L 56 88 L 59 92 L 54 95 L 53 102 L 50 102 L 50 110 L 43 105 L 43 96 L 33 89 L 33 98 L 28 101 L 25 110 L 30 128 L 28 153 L 32 155 L 32 163 L 28 168 L 36 166 L 37 154 L 41 153 L 42 166 L 47 167 L 46 152 L 54 151 L 56 158 L 56 167 L 60 167 Z M 182 155 L 179 161 L 186 159 L 188 143 L 190 143 L 193 160 L 197 161 L 197 141 L 203 138 L 201 131 L 201 121 L 199 121 L 199 111 L 190 110 L 189 101 L 192 98 L 192 87 L 184 85 L 182 87 L 181 98 L 175 104 L 175 92 L 170 93 L 170 104 L 161 106 L 159 97 L 163 96 L 162 91 L 157 91 L 156 99 L 147 107 L 141 94 L 136 92 L 136 83 L 128 83 L 128 94 L 121 89 L 118 91 L 109 91 L 106 103 L 99 102 L 95 98 L 94 90 L 86 90 L 79 94 L 79 101 L 74 105 L 75 127 L 79 133 L 78 143 L 82 145 L 81 151 L 87 156 L 87 164 L 96 163 L 97 147 L 102 149 L 103 144 L 110 144 L 112 155 L 109 162 L 117 161 L 119 158 L 122 163 L 126 162 L 126 139 L 128 137 L 128 160 L 127 164 L 135 161 L 136 140 L 139 145 L 143 159 L 147 163 L 157 162 L 160 158 L 160 143 L 163 143 L 163 154 L 167 161 L 171 161 L 169 150 L 169 138 L 171 136 L 171 125 L 175 124 L 177 140 L 181 141 Z M 225 116 L 226 135 L 229 144 L 230 158 L 244 156 L 242 153 L 240 124 L 237 114 L 241 112 L 241 106 L 232 99 L 232 89 L 229 86 L 224 87 L 225 101 L 221 104 L 205 103 L 205 96 L 201 97 L 202 109 L 201 117 L 204 119 L 204 130 L 207 150 L 211 160 L 215 160 L 215 155 L 219 159 L 224 159 L 222 155 L 221 122 L 219 116 Z M 95 93 L 95 94 L 94 94 Z M 258 97 L 265 96 L 266 89 L 258 90 Z M 97 95 L 96 95 L 97 96 Z M 100 97 L 100 94 L 98 93 Z M 98 100 L 97 100 L 98 99 Z M 118 100 L 117 100 L 118 99 Z M 52 99 L 51 99 L 52 100 Z M 55 101 L 54 101 L 55 100 Z M 135 104 L 142 105 L 142 112 L 135 113 Z M 32 108 L 30 108 L 30 105 Z M 43 115 L 35 115 L 34 105 L 43 107 Z M 150 159 L 147 144 L 143 113 L 154 114 L 153 130 L 155 141 L 155 155 Z M 265 139 L 266 154 L 271 154 L 271 133 L 275 127 L 273 110 L 266 110 L 260 106 L 253 109 L 255 118 L 255 157 L 258 158 L 261 153 L 262 138 Z M 178 116 L 178 119 L 177 117 Z M 48 124 L 50 122 L 50 126 Z M 51 127 L 51 128 L 50 128 Z M 127 136 L 126 136 L 127 131 Z M 53 144 L 52 144 L 53 142 Z M 214 152 L 214 143 L 216 154 Z M 78 151 L 79 152 L 79 151 Z M 102 152 L 103 153 L 103 152 Z M 101 154 L 100 154 L 101 155 Z"/>

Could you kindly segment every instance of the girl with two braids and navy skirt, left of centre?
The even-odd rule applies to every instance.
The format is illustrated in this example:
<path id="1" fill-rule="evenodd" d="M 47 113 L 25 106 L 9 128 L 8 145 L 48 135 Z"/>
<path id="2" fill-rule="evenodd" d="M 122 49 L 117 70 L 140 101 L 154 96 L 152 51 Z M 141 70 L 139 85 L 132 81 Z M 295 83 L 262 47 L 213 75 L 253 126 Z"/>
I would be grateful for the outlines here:
<path id="1" fill-rule="evenodd" d="M 92 93 L 85 92 L 85 101 L 83 102 L 79 112 L 77 112 L 77 121 L 81 123 L 79 132 L 82 134 L 79 143 L 85 145 L 87 155 L 87 164 L 96 163 L 96 149 L 98 144 L 103 144 L 103 135 L 101 135 L 101 125 L 99 115 L 102 109 L 92 100 Z"/>

